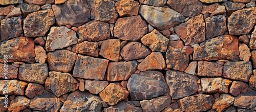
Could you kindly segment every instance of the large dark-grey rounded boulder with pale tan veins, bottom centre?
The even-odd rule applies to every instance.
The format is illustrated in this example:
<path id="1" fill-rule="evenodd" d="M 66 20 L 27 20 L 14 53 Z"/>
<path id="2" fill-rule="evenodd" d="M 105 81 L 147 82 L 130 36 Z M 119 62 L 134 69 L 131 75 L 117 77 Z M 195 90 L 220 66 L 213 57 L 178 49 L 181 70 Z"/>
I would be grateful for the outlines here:
<path id="1" fill-rule="evenodd" d="M 157 71 L 133 74 L 127 81 L 127 88 L 132 100 L 150 100 L 169 91 L 164 76 Z"/>

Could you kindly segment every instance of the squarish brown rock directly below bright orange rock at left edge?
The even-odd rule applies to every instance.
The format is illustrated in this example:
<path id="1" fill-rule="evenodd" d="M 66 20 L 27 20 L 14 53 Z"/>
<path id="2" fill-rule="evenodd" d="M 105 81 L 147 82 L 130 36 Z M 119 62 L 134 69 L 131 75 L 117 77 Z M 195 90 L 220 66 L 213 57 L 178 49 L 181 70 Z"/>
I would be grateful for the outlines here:
<path id="1" fill-rule="evenodd" d="M 44 84 L 48 76 L 46 63 L 22 64 L 18 69 L 18 79 Z"/>

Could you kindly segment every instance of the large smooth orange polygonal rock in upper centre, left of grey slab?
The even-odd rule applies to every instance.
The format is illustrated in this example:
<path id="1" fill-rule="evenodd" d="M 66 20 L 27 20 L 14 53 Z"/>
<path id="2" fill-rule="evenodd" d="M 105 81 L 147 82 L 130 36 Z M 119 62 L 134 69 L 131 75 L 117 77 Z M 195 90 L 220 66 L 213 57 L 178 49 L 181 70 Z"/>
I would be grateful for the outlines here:
<path id="1" fill-rule="evenodd" d="M 138 16 L 118 18 L 114 27 L 114 36 L 122 40 L 137 41 L 147 33 L 147 25 Z"/>

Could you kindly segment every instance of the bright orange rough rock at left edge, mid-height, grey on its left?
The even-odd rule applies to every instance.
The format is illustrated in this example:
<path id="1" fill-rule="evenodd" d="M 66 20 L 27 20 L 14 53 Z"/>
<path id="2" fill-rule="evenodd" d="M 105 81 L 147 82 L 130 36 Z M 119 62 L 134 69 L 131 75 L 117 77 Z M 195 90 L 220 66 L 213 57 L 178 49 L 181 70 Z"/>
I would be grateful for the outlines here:
<path id="1" fill-rule="evenodd" d="M 0 43 L 0 62 L 8 56 L 8 62 L 25 61 L 35 62 L 34 40 L 27 37 L 17 37 Z"/>

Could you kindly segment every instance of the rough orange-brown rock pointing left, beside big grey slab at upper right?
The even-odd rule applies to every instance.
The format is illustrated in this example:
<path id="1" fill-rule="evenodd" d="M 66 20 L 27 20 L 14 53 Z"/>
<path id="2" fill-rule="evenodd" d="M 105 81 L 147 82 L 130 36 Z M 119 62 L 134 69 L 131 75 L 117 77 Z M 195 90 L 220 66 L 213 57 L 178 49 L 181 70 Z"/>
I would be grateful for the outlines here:
<path id="1" fill-rule="evenodd" d="M 174 29 L 185 45 L 192 45 L 205 40 L 205 23 L 202 14 L 188 19 L 186 23 L 180 24 Z"/>

